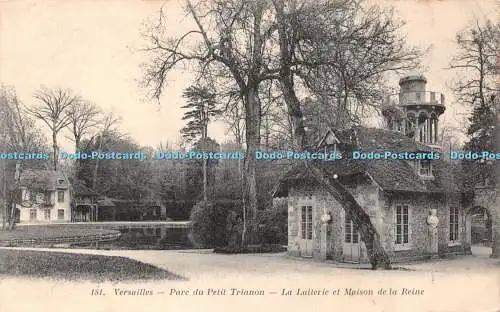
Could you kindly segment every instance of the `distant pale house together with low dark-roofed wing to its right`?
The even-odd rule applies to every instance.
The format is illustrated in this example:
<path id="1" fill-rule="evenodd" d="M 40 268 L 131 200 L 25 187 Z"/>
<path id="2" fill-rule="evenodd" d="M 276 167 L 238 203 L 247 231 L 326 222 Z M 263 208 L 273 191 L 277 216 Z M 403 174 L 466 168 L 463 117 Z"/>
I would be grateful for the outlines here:
<path id="1" fill-rule="evenodd" d="M 124 200 L 100 196 L 83 181 L 62 171 L 24 170 L 15 218 L 20 223 L 166 220 L 166 208 L 154 198 Z"/>

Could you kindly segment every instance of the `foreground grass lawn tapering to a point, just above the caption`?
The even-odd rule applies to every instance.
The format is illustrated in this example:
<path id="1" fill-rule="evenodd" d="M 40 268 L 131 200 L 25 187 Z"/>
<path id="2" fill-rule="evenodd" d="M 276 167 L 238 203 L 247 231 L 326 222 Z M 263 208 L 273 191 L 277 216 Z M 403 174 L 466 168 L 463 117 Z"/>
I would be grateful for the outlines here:
<path id="1" fill-rule="evenodd" d="M 124 257 L 32 250 L 0 250 L 0 276 L 63 280 L 184 280 L 183 277 Z"/>

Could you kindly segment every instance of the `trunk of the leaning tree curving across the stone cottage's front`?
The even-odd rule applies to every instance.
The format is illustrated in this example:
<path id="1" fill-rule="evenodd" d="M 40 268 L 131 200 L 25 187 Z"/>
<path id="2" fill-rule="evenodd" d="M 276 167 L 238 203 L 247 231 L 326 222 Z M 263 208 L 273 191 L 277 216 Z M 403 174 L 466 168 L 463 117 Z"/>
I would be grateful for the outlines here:
<path id="1" fill-rule="evenodd" d="M 285 102 L 287 104 L 288 113 L 292 118 L 294 128 L 294 139 L 298 149 L 303 149 L 305 146 L 305 129 L 302 120 L 302 110 L 300 101 L 297 98 L 293 83 L 293 74 L 291 72 L 291 51 L 288 41 L 285 20 L 283 0 L 275 1 L 276 16 L 278 18 L 278 34 L 280 43 L 280 86 L 283 91 Z M 385 252 L 380 243 L 380 237 L 373 226 L 370 217 L 366 214 L 363 208 L 356 202 L 356 199 L 335 179 L 325 176 L 324 170 L 317 167 L 314 163 L 304 161 L 304 165 L 313 177 L 324 186 L 328 193 L 331 194 L 346 212 L 346 218 L 350 218 L 355 226 L 359 228 L 362 241 L 365 243 L 368 257 L 372 269 L 390 269 L 391 262 L 389 256 Z"/>

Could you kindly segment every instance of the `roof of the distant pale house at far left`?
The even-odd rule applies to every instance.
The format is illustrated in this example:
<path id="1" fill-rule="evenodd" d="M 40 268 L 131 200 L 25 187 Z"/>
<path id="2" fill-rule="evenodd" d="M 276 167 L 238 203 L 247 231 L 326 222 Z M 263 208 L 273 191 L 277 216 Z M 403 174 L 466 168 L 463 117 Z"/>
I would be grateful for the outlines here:
<path id="1" fill-rule="evenodd" d="M 68 189 L 70 183 L 62 171 L 26 169 L 19 178 L 19 185 L 43 191 Z"/>

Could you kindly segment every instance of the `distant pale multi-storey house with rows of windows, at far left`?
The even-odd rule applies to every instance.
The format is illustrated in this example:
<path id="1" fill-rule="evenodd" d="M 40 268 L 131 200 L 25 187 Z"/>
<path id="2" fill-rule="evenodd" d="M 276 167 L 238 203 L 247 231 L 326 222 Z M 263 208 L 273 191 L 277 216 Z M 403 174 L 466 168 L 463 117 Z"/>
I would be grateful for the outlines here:
<path id="1" fill-rule="evenodd" d="M 71 184 L 62 171 L 24 170 L 19 180 L 16 219 L 20 223 L 71 221 Z"/>

